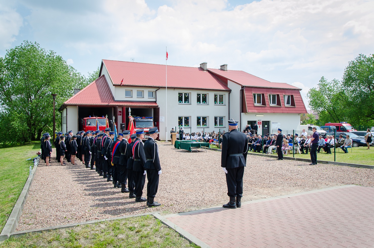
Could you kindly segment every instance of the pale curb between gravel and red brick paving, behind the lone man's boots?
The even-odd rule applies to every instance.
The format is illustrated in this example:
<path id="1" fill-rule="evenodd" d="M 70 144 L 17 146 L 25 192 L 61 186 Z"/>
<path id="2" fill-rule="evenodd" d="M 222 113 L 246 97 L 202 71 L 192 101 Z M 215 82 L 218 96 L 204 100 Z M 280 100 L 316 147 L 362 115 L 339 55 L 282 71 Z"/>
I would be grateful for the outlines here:
<path id="1" fill-rule="evenodd" d="M 334 189 L 342 189 L 342 188 L 348 188 L 348 187 L 354 187 L 354 186 L 358 186 L 358 185 L 352 185 L 352 184 L 341 185 L 341 186 L 329 187 L 329 188 L 325 188 L 325 189 L 311 190 L 311 191 L 300 192 L 300 193 L 284 195 L 284 196 L 275 196 L 275 197 L 263 198 L 263 199 L 258 199 L 258 200 L 250 200 L 250 201 L 247 201 L 247 202 L 242 202 L 242 205 L 256 203 L 256 202 L 266 202 L 268 200 L 282 199 L 282 198 L 288 198 L 288 197 L 292 197 L 292 196 L 300 196 L 300 195 L 306 195 L 306 194 L 311 194 L 311 193 L 323 192 L 323 191 L 334 190 Z M 358 187 L 361 187 L 361 186 L 358 186 Z M 211 208 L 197 209 L 197 210 L 194 210 L 194 211 L 183 212 L 183 213 L 178 213 L 178 214 L 169 214 L 169 215 L 165 215 L 164 218 L 170 218 L 170 217 L 175 217 L 175 216 L 179 216 L 179 215 L 200 214 L 200 213 L 204 213 L 204 212 L 214 211 L 214 210 L 217 210 L 217 209 L 223 209 L 223 207 L 222 206 L 214 206 L 214 207 L 211 207 Z"/>

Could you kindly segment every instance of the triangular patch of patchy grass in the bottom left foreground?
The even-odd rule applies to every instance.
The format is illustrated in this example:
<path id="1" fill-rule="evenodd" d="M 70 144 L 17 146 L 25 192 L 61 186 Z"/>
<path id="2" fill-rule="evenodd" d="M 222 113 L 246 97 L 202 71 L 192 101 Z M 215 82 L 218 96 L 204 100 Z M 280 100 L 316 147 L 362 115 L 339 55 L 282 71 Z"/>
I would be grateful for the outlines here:
<path id="1" fill-rule="evenodd" d="M 24 247 L 199 247 L 190 244 L 177 232 L 155 219 L 143 215 L 121 220 L 87 224 L 70 229 L 33 233 L 10 238 L 0 248 Z"/>

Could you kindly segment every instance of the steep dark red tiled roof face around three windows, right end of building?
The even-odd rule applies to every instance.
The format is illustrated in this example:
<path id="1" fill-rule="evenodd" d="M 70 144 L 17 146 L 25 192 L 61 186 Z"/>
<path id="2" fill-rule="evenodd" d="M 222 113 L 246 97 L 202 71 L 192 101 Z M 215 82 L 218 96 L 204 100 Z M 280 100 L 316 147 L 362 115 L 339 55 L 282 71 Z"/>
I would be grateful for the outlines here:
<path id="1" fill-rule="evenodd" d="M 266 106 L 255 106 L 253 101 L 253 94 L 265 94 L 265 102 Z M 252 88 L 246 87 L 244 88 L 245 94 L 245 101 L 248 113 L 297 113 L 303 114 L 307 113 L 307 110 L 304 105 L 303 98 L 301 98 L 299 90 L 291 90 L 291 89 L 266 89 L 266 88 Z M 279 94 L 281 97 L 281 105 L 282 107 L 278 106 L 270 106 L 269 103 L 269 94 Z M 295 99 L 295 107 L 285 107 L 283 95 L 293 95 Z"/>

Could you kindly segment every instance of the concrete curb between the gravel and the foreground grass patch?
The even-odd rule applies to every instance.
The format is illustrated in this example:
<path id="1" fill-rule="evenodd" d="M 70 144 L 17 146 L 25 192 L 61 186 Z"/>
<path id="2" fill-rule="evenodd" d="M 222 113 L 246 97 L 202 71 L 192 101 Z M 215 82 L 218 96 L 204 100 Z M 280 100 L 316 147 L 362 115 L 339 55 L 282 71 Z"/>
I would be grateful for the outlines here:
<path id="1" fill-rule="evenodd" d="M 76 227 L 76 226 L 86 225 L 86 224 L 95 224 L 95 223 L 103 222 L 103 221 L 120 220 L 120 219 L 126 219 L 126 218 L 131 218 L 131 217 L 143 216 L 143 215 L 153 215 L 153 214 L 156 214 L 156 213 L 158 213 L 158 212 L 133 214 L 133 215 L 126 215 L 126 216 L 121 216 L 121 217 L 106 218 L 106 219 L 100 219 L 100 220 L 91 220 L 91 221 L 85 221 L 85 222 L 79 222 L 79 223 L 70 223 L 70 224 L 65 224 L 65 225 L 60 225 L 60 226 L 43 227 L 43 228 L 39 228 L 39 229 L 31 229 L 31 230 L 25 230 L 25 231 L 18 231 L 18 232 L 13 232 L 10 235 L 10 237 L 20 237 L 20 236 L 25 235 L 27 233 L 49 232 L 49 231 L 57 230 L 57 229 L 65 229 L 65 228 L 70 228 L 70 227 Z"/>

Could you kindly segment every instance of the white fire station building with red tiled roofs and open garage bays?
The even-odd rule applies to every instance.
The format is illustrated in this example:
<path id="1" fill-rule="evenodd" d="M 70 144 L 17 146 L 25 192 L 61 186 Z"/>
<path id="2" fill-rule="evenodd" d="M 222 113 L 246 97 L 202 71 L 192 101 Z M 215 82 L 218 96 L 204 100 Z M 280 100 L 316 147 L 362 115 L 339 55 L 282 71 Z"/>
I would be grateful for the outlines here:
<path id="1" fill-rule="evenodd" d="M 205 62 L 198 68 L 168 65 L 166 88 L 165 65 L 103 59 L 99 78 L 59 108 L 61 130 L 75 133 L 82 130 L 83 118 L 108 116 L 121 132 L 129 108 L 133 117 L 153 117 L 160 140 L 169 139 L 175 127 L 186 133 L 227 132 L 231 118 L 240 121 L 240 130 L 258 123 L 258 134 L 276 132 L 275 123 L 298 129 L 300 114 L 307 113 L 300 90 L 227 70 L 226 64 L 209 69 Z"/>

